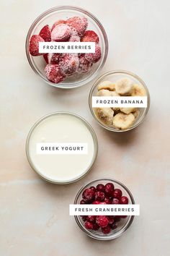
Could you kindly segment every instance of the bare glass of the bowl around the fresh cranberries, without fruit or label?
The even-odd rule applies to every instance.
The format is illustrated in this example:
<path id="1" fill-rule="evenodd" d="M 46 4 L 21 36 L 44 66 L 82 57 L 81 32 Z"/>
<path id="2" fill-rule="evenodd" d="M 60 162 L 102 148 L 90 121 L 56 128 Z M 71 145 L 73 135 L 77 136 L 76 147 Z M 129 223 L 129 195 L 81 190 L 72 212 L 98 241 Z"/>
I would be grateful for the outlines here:
<path id="1" fill-rule="evenodd" d="M 114 179 L 96 179 L 92 182 L 89 182 L 88 184 L 84 185 L 84 187 L 81 187 L 79 192 L 76 195 L 76 198 L 74 200 L 74 204 L 79 204 L 82 200 L 82 193 L 85 189 L 94 186 L 96 187 L 97 184 L 107 184 L 108 182 L 112 182 L 115 185 L 115 188 L 122 190 L 122 195 L 128 197 L 129 204 L 134 205 L 135 200 L 133 198 L 133 195 L 131 194 L 130 190 L 125 187 L 124 184 L 121 182 L 117 182 Z M 121 218 L 121 221 L 117 224 L 117 229 L 112 230 L 109 234 L 103 234 L 102 231 L 94 231 L 89 230 L 84 227 L 84 221 L 82 220 L 81 216 L 74 216 L 76 219 L 76 223 L 79 225 L 79 228 L 84 231 L 88 236 L 98 239 L 98 240 L 112 240 L 117 238 L 118 236 L 121 236 L 133 223 L 134 216 L 127 216 L 127 218 Z"/>

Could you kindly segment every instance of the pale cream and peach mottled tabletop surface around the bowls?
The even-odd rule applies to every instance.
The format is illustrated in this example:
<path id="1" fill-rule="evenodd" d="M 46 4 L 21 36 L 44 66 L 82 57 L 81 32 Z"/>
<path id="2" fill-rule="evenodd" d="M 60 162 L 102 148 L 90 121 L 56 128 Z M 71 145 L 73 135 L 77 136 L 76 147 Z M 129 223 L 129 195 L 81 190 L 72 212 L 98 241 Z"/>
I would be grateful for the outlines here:
<path id="1" fill-rule="evenodd" d="M 50 88 L 29 67 L 24 42 L 32 21 L 70 2 L 96 15 L 107 31 L 109 56 L 101 74 L 127 69 L 148 85 L 150 112 L 131 132 L 99 127 L 88 106 L 91 84 L 76 90 Z M 169 7 L 168 0 L 1 1 L 1 256 L 169 255 Z M 32 124 L 61 110 L 83 116 L 99 140 L 94 168 L 67 186 L 42 181 L 24 151 Z M 90 239 L 68 216 L 79 187 L 101 177 L 125 183 L 140 203 L 140 217 L 111 242 Z"/>

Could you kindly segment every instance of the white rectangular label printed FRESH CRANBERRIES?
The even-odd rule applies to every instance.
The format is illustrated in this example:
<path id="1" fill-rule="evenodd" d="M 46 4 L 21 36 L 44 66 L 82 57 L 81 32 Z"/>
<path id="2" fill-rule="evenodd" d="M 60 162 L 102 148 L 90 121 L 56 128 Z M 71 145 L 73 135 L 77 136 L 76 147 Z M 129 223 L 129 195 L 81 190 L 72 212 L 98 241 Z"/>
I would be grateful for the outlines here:
<path id="1" fill-rule="evenodd" d="M 140 205 L 70 205 L 70 216 L 139 216 Z"/>

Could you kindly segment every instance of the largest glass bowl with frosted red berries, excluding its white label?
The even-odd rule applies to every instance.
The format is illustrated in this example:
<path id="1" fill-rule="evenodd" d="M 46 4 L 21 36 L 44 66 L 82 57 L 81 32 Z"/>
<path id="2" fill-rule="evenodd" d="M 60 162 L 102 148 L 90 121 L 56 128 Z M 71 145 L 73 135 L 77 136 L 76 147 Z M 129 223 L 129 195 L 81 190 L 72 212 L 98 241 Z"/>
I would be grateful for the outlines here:
<path id="1" fill-rule="evenodd" d="M 94 42 L 94 54 L 40 54 L 39 42 Z M 108 40 L 102 24 L 79 7 L 54 7 L 42 13 L 27 33 L 30 66 L 42 80 L 57 88 L 76 88 L 94 79 L 102 69 Z"/>

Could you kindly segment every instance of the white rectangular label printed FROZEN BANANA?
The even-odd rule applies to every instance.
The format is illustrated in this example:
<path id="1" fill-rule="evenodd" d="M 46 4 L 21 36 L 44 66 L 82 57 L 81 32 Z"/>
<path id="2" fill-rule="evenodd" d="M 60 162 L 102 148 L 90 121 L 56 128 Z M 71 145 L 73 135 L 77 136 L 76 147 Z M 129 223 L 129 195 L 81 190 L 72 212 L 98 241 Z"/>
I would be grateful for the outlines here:
<path id="1" fill-rule="evenodd" d="M 93 96 L 93 108 L 147 108 L 147 96 Z"/>

